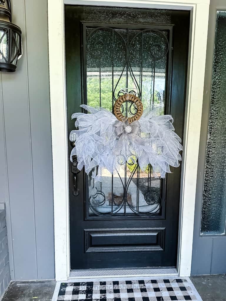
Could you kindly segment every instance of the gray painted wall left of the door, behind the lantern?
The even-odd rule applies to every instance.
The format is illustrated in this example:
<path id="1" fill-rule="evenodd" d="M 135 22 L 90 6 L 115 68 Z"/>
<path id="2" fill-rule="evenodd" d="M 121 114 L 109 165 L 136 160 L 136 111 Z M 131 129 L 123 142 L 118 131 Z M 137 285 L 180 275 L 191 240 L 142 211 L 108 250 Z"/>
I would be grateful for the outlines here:
<path id="1" fill-rule="evenodd" d="M 0 202 L 6 203 L 11 278 L 53 279 L 47 0 L 11 2 L 23 35 L 16 72 L 0 75 Z"/>

